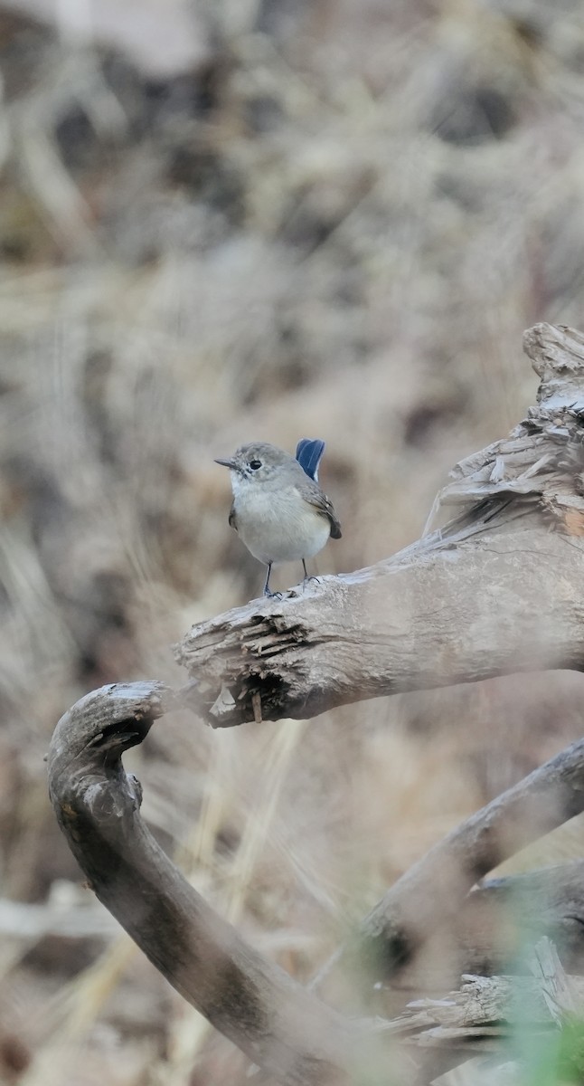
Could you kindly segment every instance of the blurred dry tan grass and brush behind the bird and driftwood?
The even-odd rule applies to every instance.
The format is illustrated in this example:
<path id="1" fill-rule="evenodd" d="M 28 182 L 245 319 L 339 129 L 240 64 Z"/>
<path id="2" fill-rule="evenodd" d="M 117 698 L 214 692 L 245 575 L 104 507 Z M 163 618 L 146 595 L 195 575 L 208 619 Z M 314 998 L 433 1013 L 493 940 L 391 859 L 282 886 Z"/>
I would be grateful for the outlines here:
<path id="1" fill-rule="evenodd" d="M 344 534 L 318 564 L 343 571 L 415 539 L 522 417 L 523 329 L 584 326 L 584 12 L 100 0 L 90 40 L 81 5 L 37 7 L 0 9 L 0 1081 L 243 1083 L 80 886 L 42 756 L 87 690 L 182 682 L 169 644 L 258 594 L 214 456 L 325 438 Z M 307 980 L 581 734 L 583 686 L 177 716 L 131 768 L 198 888 Z"/>

